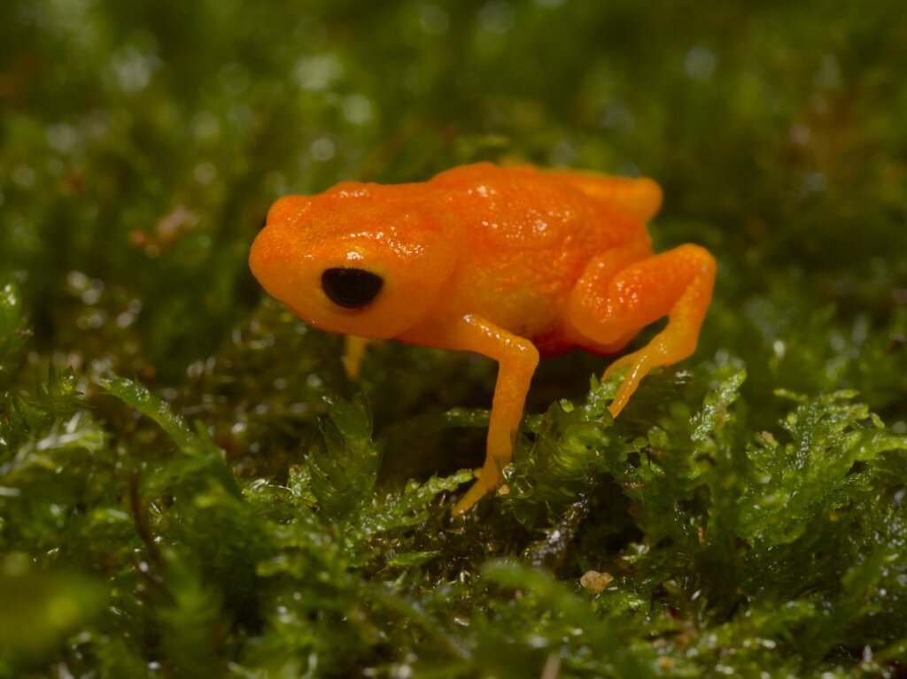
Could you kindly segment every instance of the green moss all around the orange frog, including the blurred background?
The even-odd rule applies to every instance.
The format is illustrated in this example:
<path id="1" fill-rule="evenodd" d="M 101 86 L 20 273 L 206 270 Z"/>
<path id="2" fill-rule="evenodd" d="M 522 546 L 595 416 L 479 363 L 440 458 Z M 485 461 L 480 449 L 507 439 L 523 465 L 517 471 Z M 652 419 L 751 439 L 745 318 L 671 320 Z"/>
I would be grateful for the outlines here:
<path id="1" fill-rule="evenodd" d="M 905 25 L 4 2 L 0 675 L 903 676 Z M 654 177 L 658 248 L 720 265 L 618 422 L 600 359 L 544 364 L 509 494 L 452 521 L 494 365 L 350 383 L 246 256 L 278 195 L 473 160 Z"/>

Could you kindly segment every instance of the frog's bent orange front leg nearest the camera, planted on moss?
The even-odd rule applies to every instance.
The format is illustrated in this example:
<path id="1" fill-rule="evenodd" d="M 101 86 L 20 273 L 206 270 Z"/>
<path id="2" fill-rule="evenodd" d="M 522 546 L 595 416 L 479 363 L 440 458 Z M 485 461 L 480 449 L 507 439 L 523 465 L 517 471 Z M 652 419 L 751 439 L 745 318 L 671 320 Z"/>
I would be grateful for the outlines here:
<path id="1" fill-rule="evenodd" d="M 539 364 L 539 352 L 529 340 L 472 315 L 457 322 L 445 344 L 453 349 L 484 354 L 498 362 L 485 463 L 479 480 L 453 509 L 459 514 L 501 483 L 501 470 L 511 461 L 513 435 L 520 425 L 532 373 Z"/>

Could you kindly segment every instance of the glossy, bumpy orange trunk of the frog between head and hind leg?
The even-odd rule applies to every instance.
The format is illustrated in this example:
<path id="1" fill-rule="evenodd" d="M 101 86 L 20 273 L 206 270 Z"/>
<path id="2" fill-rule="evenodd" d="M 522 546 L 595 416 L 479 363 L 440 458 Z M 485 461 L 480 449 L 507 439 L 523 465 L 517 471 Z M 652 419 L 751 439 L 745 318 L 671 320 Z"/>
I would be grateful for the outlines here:
<path id="1" fill-rule="evenodd" d="M 563 335 L 562 310 L 590 259 L 649 244 L 639 218 L 590 196 L 562 170 L 481 163 L 424 186 L 456 215 L 469 248 L 453 276 L 450 310 L 533 340 Z"/>

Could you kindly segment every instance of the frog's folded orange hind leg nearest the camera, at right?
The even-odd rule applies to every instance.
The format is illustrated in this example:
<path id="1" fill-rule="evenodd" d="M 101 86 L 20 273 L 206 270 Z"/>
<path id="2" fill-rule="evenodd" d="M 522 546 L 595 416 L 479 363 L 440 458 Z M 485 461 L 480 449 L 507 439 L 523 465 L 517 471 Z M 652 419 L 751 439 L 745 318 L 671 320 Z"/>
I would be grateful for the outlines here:
<path id="1" fill-rule="evenodd" d="M 696 350 L 699 326 L 715 284 L 715 258 L 695 245 L 617 268 L 614 254 L 593 259 L 568 302 L 571 325 L 598 348 L 617 349 L 646 325 L 668 315 L 668 325 L 642 349 L 610 364 L 604 377 L 629 365 L 609 410 L 623 410 L 652 368 L 675 364 Z M 581 344 L 581 341 L 580 341 Z"/>

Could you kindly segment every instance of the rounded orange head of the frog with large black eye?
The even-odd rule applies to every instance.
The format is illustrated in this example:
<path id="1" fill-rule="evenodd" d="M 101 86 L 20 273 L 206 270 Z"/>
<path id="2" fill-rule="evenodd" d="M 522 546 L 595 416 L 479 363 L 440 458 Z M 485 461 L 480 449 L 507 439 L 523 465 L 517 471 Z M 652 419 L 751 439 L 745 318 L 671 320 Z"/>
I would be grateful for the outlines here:
<path id="1" fill-rule="evenodd" d="M 346 182 L 279 199 L 252 245 L 252 273 L 311 325 L 401 335 L 434 307 L 458 248 L 444 214 L 395 189 Z"/>

